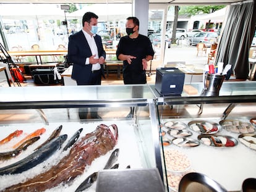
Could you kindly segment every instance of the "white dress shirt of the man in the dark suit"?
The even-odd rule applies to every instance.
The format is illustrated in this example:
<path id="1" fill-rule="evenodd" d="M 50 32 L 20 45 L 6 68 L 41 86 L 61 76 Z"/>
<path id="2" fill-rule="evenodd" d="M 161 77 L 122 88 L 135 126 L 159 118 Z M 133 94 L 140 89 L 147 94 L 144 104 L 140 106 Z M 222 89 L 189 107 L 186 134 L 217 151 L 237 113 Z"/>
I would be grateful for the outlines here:
<path id="1" fill-rule="evenodd" d="M 82 31 L 83 31 L 83 34 L 85 35 L 85 38 L 86 38 L 86 40 L 87 40 L 87 42 L 88 42 L 88 44 L 90 46 L 92 54 L 96 55 L 95 59 L 98 59 L 99 58 L 99 54 L 98 54 L 98 48 L 96 46 L 96 42 L 95 42 L 95 39 L 94 39 L 95 35 L 91 36 L 87 32 L 85 32 L 84 30 L 82 30 Z M 90 64 L 89 58 L 87 58 L 86 61 L 85 61 L 85 65 L 88 65 L 88 64 Z M 99 63 L 93 64 L 92 65 L 92 71 L 93 70 L 100 70 L 100 64 Z"/>

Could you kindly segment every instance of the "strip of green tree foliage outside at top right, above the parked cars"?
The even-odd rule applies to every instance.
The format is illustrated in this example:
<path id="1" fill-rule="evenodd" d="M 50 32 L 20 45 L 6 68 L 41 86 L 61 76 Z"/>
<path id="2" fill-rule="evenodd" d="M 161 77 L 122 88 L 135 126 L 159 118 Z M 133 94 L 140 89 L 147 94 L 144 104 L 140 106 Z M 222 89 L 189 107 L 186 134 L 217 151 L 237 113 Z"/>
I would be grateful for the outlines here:
<path id="1" fill-rule="evenodd" d="M 211 14 L 225 6 L 181 6 L 179 15 L 192 16 L 197 14 Z"/>

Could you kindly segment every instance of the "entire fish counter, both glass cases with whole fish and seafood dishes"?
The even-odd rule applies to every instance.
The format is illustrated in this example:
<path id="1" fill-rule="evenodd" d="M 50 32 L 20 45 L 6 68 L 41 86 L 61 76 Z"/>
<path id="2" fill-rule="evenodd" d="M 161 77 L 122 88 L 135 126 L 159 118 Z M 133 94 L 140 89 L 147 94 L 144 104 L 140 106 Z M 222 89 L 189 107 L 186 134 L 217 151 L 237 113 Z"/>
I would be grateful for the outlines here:
<path id="1" fill-rule="evenodd" d="M 190 172 L 241 191 L 256 178 L 256 82 L 224 81 L 218 96 L 202 89 L 192 83 L 161 96 L 153 85 L 2 88 L 0 191 L 97 191 L 98 173 L 127 170 L 157 170 L 165 191 L 178 191 Z"/>

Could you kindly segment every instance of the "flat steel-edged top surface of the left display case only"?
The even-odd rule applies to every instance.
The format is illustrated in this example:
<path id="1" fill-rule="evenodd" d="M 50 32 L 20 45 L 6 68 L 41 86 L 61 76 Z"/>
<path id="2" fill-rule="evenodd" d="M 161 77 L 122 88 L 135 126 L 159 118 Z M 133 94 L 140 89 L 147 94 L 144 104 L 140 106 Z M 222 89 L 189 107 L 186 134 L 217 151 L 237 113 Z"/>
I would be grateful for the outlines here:
<path id="1" fill-rule="evenodd" d="M 31 86 L 2 88 L 0 94 L 0 109 L 143 105 L 155 98 L 148 85 Z"/>

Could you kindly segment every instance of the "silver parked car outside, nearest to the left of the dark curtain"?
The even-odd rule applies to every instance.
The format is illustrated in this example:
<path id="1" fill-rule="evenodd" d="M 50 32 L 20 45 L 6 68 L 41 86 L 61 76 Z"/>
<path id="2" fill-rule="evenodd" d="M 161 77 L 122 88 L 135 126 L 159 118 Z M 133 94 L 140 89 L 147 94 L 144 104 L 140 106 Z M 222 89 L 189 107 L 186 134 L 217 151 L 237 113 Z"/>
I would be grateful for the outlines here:
<path id="1" fill-rule="evenodd" d="M 205 43 L 207 47 L 210 47 L 211 44 L 218 42 L 218 36 L 218 33 L 215 32 L 195 33 L 194 36 L 187 39 L 187 44 L 194 45 L 197 43 Z"/>

